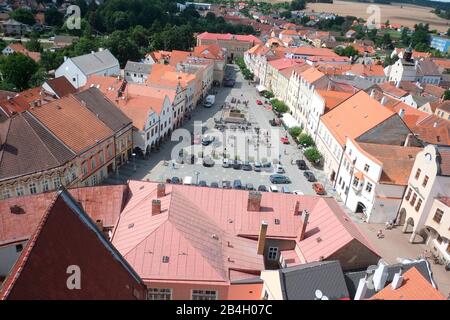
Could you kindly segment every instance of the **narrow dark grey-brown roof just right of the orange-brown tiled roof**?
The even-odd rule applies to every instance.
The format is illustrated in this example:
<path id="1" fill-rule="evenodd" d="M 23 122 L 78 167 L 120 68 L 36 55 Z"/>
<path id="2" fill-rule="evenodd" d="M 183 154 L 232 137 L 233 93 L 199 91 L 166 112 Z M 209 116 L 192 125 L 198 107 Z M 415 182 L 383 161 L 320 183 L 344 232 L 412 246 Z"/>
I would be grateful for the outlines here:
<path id="1" fill-rule="evenodd" d="M 122 110 L 95 87 L 76 93 L 74 97 L 80 102 L 84 101 L 86 107 L 114 132 L 132 123 Z"/>

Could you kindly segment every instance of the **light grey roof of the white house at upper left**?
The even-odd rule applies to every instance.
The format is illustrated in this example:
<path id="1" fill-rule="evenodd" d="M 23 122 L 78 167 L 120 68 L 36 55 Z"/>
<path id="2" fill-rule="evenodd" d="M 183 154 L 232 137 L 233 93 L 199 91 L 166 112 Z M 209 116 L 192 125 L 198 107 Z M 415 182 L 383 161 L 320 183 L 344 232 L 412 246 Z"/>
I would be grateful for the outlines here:
<path id="1" fill-rule="evenodd" d="M 119 67 L 119 61 L 108 49 L 73 57 L 71 60 L 85 75 L 94 74 L 109 68 Z"/>

